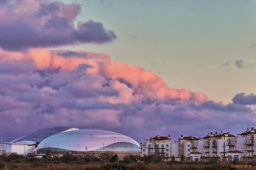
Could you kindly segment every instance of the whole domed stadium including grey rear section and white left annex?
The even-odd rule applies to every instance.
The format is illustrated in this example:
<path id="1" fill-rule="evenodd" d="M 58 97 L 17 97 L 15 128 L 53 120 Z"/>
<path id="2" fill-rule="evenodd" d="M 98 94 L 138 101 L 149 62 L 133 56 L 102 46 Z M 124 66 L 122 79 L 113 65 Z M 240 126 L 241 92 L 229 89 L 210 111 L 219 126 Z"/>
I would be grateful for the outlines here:
<path id="1" fill-rule="evenodd" d="M 30 152 L 44 154 L 46 150 L 56 154 L 99 154 L 105 151 L 118 155 L 139 154 L 140 144 L 129 136 L 111 131 L 54 127 L 3 142 L 0 146 L 2 152 L 22 155 Z"/>

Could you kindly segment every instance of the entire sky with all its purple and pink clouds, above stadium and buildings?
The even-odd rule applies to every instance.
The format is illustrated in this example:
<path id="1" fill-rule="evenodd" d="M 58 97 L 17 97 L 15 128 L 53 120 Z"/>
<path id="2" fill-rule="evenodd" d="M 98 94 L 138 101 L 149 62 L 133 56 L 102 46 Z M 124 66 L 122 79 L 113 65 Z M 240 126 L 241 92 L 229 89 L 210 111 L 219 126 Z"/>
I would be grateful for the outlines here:
<path id="1" fill-rule="evenodd" d="M 0 137 L 256 125 L 255 1 L 0 2 Z M 3 34 L 4 33 L 4 34 Z"/>

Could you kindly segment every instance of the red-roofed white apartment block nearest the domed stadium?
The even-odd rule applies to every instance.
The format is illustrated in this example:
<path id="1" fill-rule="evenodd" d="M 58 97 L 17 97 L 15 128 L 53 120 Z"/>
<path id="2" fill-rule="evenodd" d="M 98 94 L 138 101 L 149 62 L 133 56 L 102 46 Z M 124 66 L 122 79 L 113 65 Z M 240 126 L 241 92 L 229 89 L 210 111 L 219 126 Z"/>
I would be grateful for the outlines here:
<path id="1" fill-rule="evenodd" d="M 172 139 L 170 135 L 150 137 L 145 139 L 141 145 L 141 156 L 156 155 L 161 157 L 172 156 Z"/>

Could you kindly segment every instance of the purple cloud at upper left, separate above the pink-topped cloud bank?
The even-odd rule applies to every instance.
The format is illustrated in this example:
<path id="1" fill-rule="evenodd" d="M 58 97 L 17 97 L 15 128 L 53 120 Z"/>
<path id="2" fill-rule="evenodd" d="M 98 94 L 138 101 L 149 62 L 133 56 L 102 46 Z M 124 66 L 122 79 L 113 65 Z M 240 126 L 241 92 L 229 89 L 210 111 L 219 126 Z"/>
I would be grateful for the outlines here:
<path id="1" fill-rule="evenodd" d="M 0 6 L 0 47 L 19 51 L 30 47 L 56 47 L 79 43 L 106 43 L 117 38 L 113 31 L 93 20 L 75 19 L 78 4 L 60 1 L 12 1 Z"/>

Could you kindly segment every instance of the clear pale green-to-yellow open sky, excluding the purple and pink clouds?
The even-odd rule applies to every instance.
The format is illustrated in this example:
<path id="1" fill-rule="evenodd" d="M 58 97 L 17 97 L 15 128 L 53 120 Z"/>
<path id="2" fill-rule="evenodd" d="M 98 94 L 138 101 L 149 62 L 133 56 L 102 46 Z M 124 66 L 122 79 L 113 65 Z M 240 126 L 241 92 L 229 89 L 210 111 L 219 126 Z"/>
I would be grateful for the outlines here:
<path id="1" fill-rule="evenodd" d="M 76 2 L 79 20 L 103 22 L 118 40 L 69 49 L 109 54 L 153 70 L 168 86 L 203 91 L 219 102 L 229 103 L 241 91 L 256 93 L 255 1 Z M 253 66 L 241 69 L 236 60 Z"/>

